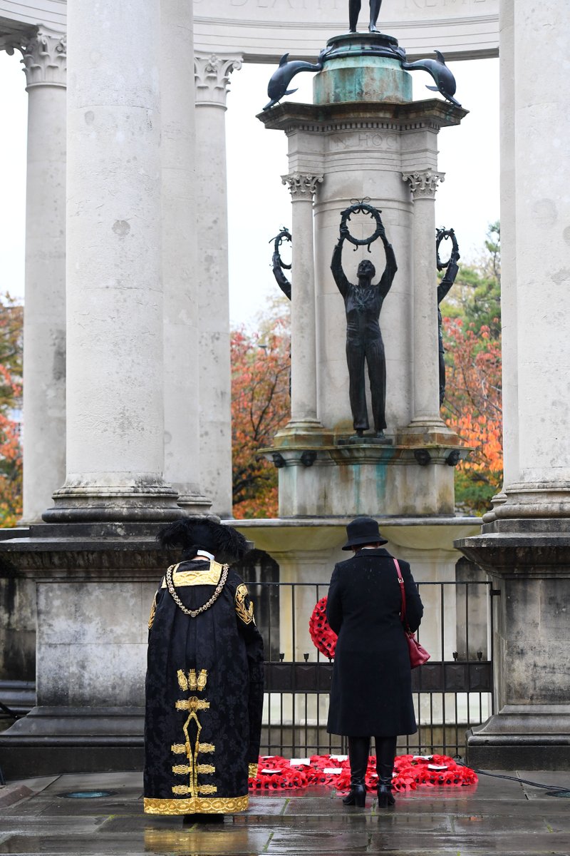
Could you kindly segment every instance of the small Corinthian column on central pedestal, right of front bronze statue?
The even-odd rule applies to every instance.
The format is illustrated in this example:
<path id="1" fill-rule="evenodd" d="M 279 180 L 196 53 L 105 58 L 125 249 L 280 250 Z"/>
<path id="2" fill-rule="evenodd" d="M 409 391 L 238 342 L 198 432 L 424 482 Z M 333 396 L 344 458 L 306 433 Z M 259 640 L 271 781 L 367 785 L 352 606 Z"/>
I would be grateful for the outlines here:
<path id="1" fill-rule="evenodd" d="M 435 194 L 444 174 L 435 169 L 403 173 L 414 197 L 414 396 L 406 432 L 448 431 L 439 415 L 438 292 Z"/>

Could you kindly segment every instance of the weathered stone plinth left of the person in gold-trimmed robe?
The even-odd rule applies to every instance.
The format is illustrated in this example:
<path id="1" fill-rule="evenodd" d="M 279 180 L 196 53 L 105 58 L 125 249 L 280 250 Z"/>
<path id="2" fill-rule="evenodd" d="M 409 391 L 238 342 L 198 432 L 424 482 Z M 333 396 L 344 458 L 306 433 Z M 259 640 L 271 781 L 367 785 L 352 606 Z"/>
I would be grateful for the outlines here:
<path id="1" fill-rule="evenodd" d="M 37 600 L 37 706 L 0 736 L 4 775 L 140 769 L 157 528 L 38 525 L 0 544 Z"/>

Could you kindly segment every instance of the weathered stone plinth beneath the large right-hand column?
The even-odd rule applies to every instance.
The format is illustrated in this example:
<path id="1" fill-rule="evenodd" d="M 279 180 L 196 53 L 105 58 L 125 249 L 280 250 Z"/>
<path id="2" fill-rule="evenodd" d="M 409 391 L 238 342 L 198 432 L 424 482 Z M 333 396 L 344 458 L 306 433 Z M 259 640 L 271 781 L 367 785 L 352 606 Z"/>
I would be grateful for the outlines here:
<path id="1" fill-rule="evenodd" d="M 497 713 L 467 735 L 468 763 L 565 770 L 570 764 L 570 520 L 508 518 L 508 495 L 481 535 L 455 546 L 491 576 Z M 561 506 L 559 505 L 560 509 Z M 492 514 L 489 515 L 490 517 Z"/>

